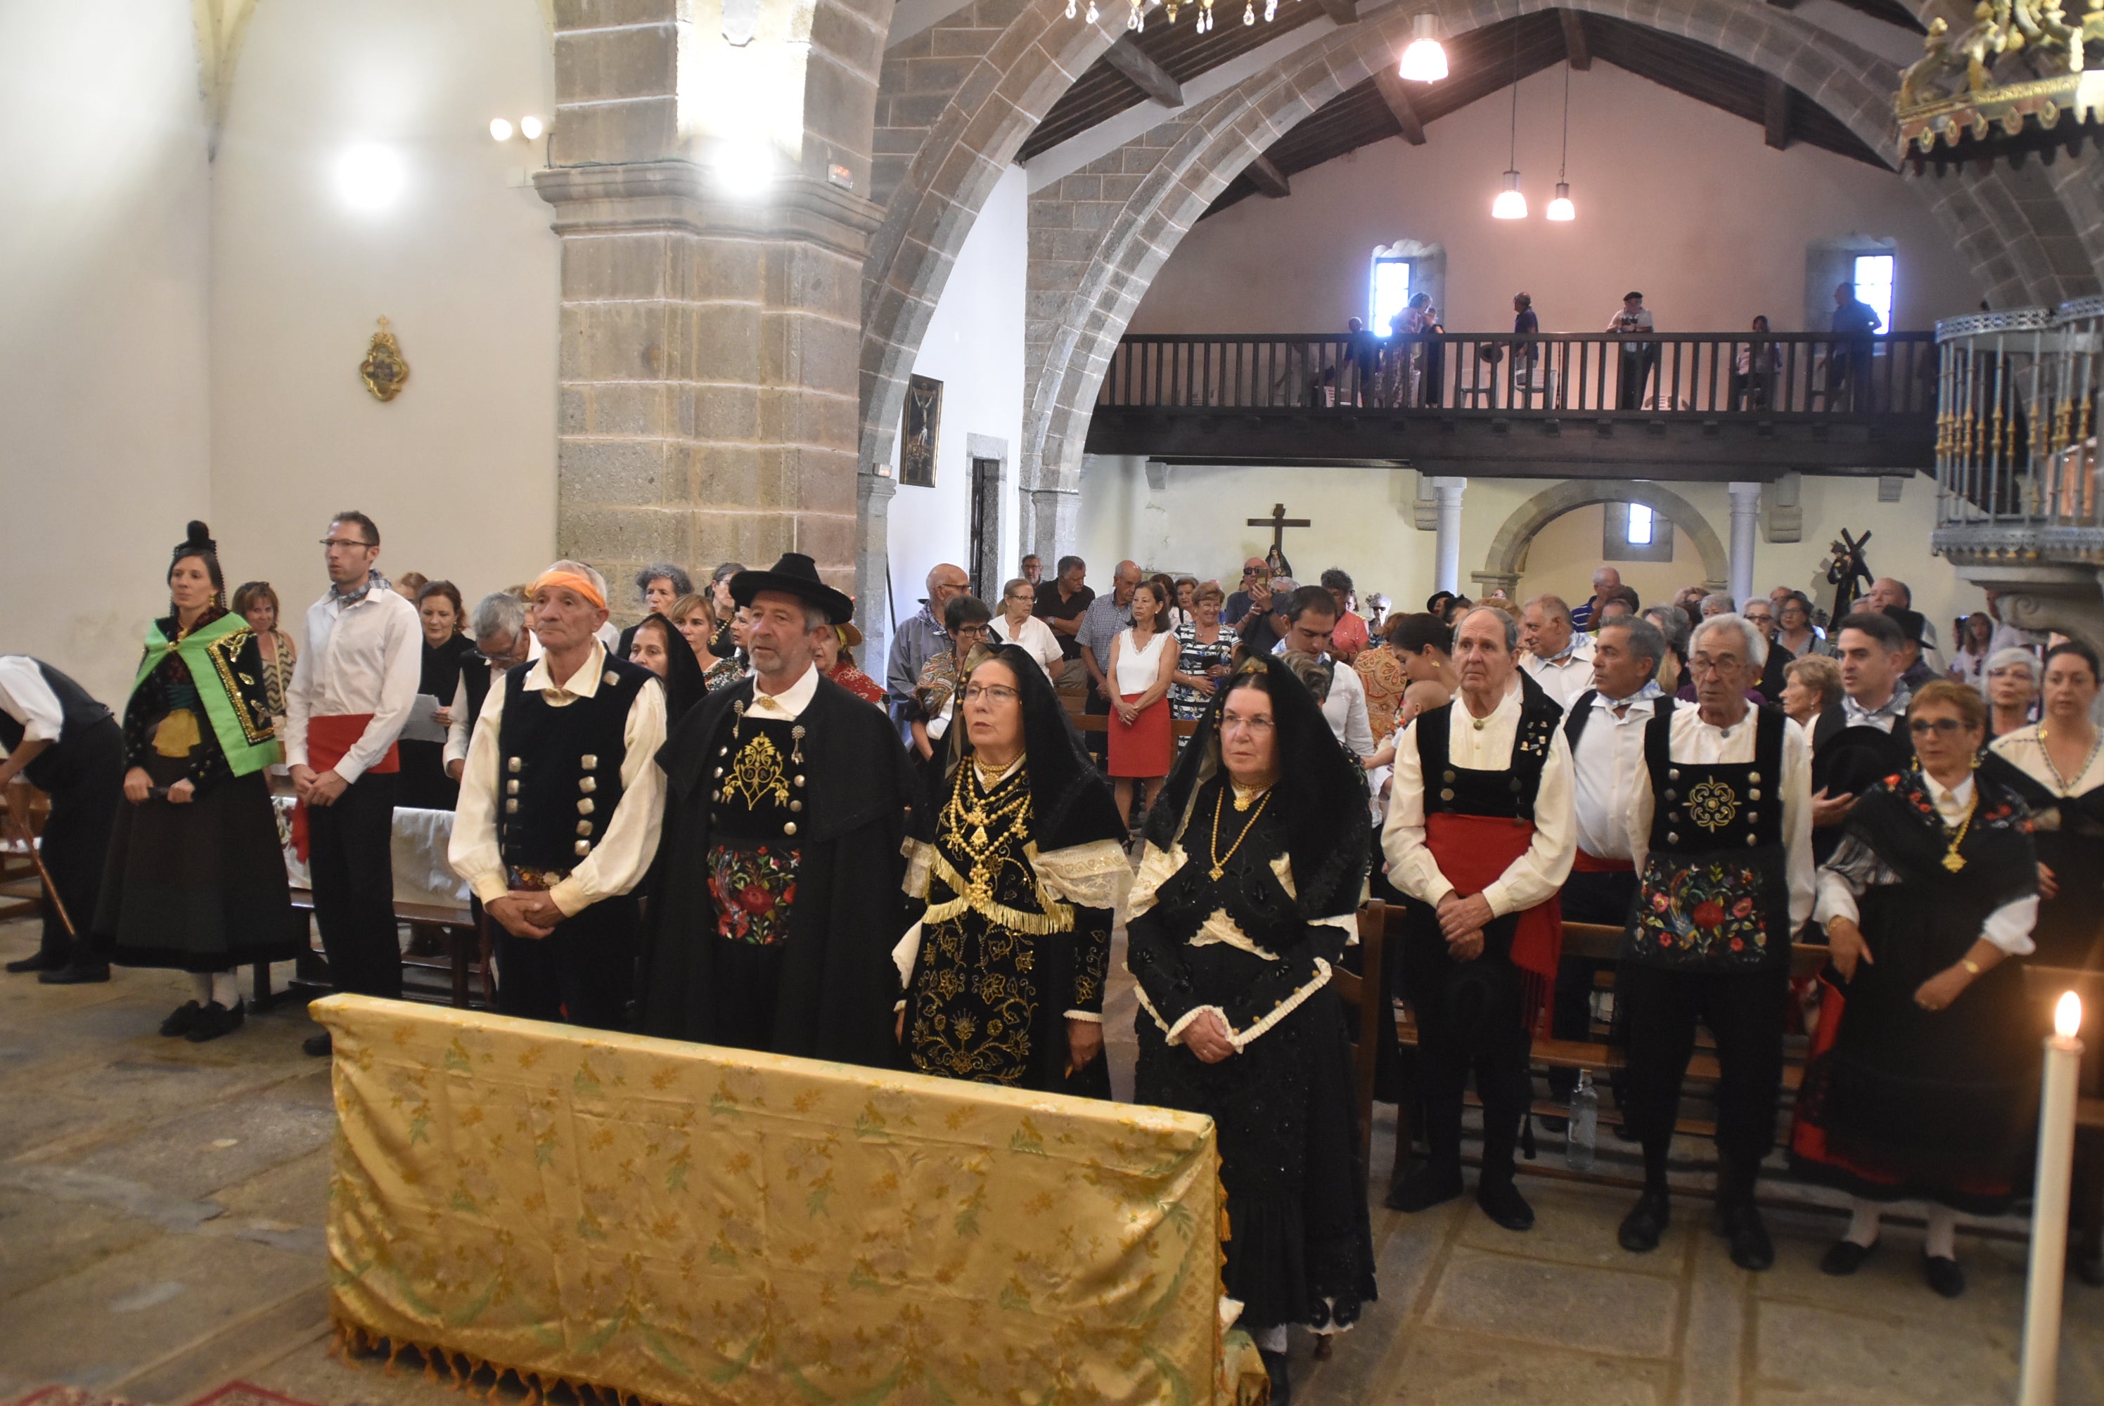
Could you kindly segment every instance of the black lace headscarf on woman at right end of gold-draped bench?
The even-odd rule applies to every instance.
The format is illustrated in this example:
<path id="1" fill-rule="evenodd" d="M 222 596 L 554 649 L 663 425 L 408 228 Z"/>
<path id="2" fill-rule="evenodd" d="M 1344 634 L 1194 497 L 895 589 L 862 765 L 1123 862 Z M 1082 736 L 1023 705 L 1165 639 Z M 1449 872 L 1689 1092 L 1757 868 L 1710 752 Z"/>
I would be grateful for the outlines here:
<path id="1" fill-rule="evenodd" d="M 1273 655 L 1246 659 L 1222 680 L 1185 743 L 1161 796 L 1147 810 L 1147 840 L 1170 848 L 1191 819 L 1206 783 L 1225 775 L 1220 764 L 1220 711 L 1248 674 L 1260 674 L 1271 692 L 1277 726 L 1279 779 L 1271 787 L 1273 815 L 1288 836 L 1294 890 L 1304 918 L 1334 918 L 1359 907 L 1372 817 L 1365 808 L 1365 772 L 1336 741 L 1315 697 Z"/>

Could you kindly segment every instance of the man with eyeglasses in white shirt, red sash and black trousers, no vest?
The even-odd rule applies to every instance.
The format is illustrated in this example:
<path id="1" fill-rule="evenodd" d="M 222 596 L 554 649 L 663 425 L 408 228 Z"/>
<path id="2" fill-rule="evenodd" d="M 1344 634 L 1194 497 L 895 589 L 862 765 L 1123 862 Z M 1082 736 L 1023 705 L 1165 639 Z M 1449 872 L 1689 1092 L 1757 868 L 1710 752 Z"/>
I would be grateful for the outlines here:
<path id="1" fill-rule="evenodd" d="M 284 690 L 284 758 L 299 796 L 313 922 L 339 991 L 402 998 L 393 920 L 396 737 L 423 678 L 423 623 L 377 568 L 381 530 L 337 514 L 322 537 L 328 594 L 307 608 L 307 640 Z M 328 1031 L 309 1054 L 330 1052 Z"/>

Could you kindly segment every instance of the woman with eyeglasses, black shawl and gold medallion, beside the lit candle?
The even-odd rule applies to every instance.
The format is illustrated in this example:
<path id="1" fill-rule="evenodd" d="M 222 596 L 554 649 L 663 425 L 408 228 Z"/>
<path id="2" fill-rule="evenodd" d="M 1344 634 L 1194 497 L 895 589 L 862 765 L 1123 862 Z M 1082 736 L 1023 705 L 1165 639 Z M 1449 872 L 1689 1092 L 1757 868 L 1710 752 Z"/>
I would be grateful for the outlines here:
<path id="1" fill-rule="evenodd" d="M 1881 1208 L 1923 1200 L 1923 1273 L 1955 1299 L 1957 1214 L 2009 1208 L 2039 1107 L 2043 1021 L 2007 960 L 2032 951 L 2039 861 L 2001 768 L 1974 770 L 1980 695 L 1934 680 L 1906 728 L 1919 766 L 1856 800 L 1820 869 L 1814 916 L 1833 960 L 1791 1164 L 1854 1198 L 1820 1269 L 1856 1273 Z"/>

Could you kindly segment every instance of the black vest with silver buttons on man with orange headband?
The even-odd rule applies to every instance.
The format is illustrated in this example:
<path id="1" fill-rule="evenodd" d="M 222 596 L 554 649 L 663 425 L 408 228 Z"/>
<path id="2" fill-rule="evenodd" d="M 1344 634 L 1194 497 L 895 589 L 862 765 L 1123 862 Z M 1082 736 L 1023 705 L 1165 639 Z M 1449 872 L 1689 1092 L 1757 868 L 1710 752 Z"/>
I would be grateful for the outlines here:
<path id="1" fill-rule="evenodd" d="M 505 674 L 497 844 L 515 869 L 568 873 L 606 838 L 621 804 L 629 707 L 656 676 L 608 657 L 598 692 L 551 707 L 539 688 L 526 688 L 528 671 L 522 663 Z"/>

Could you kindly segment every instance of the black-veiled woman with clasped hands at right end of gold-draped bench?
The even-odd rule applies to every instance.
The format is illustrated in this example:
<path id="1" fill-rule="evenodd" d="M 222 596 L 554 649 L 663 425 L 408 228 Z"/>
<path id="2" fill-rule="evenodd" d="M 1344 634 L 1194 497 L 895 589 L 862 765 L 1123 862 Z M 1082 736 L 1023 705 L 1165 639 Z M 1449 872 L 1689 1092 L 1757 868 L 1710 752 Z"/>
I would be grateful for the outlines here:
<path id="1" fill-rule="evenodd" d="M 1208 705 L 1159 802 L 1126 918 L 1140 1103 L 1208 1113 L 1222 1273 L 1290 1400 L 1286 1328 L 1340 1332 L 1374 1299 L 1351 1052 L 1330 968 L 1355 935 L 1370 817 L 1357 762 L 1283 661 Z"/>

